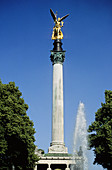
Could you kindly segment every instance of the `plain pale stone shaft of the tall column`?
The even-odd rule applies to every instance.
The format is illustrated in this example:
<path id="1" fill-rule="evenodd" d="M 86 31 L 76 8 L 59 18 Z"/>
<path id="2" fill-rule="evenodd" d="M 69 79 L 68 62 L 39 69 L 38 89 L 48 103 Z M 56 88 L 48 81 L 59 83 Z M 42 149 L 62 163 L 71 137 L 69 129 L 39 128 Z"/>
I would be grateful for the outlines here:
<path id="1" fill-rule="evenodd" d="M 52 145 L 64 144 L 63 66 L 53 65 Z"/>

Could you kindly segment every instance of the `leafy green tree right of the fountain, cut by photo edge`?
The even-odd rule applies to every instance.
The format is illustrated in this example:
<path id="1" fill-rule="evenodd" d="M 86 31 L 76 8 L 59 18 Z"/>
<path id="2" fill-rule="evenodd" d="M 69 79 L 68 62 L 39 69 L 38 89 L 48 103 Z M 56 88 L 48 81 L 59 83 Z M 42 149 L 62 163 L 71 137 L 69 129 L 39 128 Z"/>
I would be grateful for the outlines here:
<path id="1" fill-rule="evenodd" d="M 105 91 L 105 103 L 95 113 L 95 121 L 89 126 L 89 147 L 93 148 L 94 164 L 112 170 L 112 91 Z"/>

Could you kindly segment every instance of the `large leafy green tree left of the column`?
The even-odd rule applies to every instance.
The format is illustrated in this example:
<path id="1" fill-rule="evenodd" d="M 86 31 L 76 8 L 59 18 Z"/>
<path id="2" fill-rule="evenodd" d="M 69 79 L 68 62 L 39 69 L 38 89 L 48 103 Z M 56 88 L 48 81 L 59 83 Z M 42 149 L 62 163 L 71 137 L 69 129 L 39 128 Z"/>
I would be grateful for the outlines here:
<path id="1" fill-rule="evenodd" d="M 33 122 L 26 114 L 28 105 L 14 82 L 0 81 L 0 169 L 33 169 L 35 154 Z"/>

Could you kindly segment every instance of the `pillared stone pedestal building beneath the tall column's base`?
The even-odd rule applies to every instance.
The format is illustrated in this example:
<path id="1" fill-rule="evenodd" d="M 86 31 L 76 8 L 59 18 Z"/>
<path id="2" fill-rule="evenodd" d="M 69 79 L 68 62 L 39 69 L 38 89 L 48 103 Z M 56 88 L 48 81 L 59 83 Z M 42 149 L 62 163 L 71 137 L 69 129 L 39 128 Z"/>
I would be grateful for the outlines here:
<path id="1" fill-rule="evenodd" d="M 76 161 L 79 161 L 80 168 L 83 170 L 83 157 L 76 156 L 74 159 L 70 154 L 44 154 L 41 156 L 39 162 L 37 162 L 37 169 L 35 170 L 70 170 L 71 166 L 74 170 L 77 169 Z"/>

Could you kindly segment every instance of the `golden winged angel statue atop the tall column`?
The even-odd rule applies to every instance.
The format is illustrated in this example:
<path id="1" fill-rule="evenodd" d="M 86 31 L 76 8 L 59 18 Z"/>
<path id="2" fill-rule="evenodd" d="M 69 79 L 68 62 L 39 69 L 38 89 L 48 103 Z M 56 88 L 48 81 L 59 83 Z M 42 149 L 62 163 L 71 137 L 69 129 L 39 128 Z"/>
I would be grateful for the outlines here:
<path id="1" fill-rule="evenodd" d="M 53 27 L 53 33 L 52 33 L 52 40 L 56 40 L 56 39 L 63 39 L 63 33 L 61 31 L 61 27 L 63 27 L 63 20 L 69 16 L 69 14 L 65 15 L 62 18 L 58 18 L 56 14 L 54 14 L 54 12 L 52 11 L 52 9 L 50 9 L 50 13 L 51 16 L 53 17 L 55 26 Z"/>

